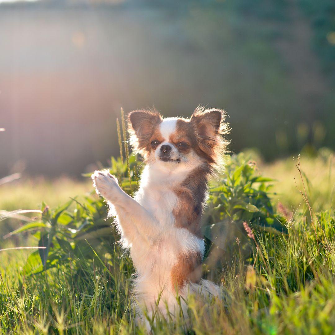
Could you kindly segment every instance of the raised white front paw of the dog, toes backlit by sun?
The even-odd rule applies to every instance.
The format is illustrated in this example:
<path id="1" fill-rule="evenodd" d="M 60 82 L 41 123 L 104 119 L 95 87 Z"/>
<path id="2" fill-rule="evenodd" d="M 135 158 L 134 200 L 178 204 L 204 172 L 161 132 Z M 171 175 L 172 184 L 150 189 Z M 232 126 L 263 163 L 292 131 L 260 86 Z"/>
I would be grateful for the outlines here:
<path id="1" fill-rule="evenodd" d="M 115 191 L 120 188 L 117 178 L 111 175 L 108 170 L 95 171 L 91 178 L 96 194 L 100 194 L 108 200 L 112 200 Z"/>

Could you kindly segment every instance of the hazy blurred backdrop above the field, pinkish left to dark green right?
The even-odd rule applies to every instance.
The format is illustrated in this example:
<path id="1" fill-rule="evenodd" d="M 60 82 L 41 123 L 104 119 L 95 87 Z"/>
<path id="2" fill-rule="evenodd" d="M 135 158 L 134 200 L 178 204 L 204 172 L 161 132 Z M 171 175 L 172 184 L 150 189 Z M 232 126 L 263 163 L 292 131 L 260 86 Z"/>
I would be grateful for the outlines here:
<path id="1" fill-rule="evenodd" d="M 230 150 L 335 148 L 333 0 L 0 0 L 0 178 L 80 177 L 115 119 L 227 111 Z"/>

